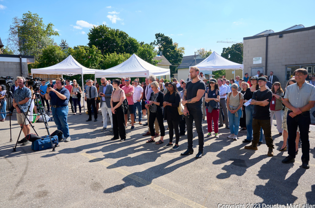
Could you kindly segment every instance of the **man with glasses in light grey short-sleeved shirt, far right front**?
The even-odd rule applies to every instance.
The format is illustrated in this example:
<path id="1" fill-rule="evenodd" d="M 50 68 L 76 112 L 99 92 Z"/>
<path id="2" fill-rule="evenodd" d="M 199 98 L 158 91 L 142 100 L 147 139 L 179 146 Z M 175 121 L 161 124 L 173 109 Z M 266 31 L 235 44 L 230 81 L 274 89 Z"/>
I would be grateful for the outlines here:
<path id="1" fill-rule="evenodd" d="M 287 117 L 288 125 L 288 154 L 282 163 L 295 162 L 295 138 L 297 127 L 300 129 L 302 141 L 302 168 L 310 168 L 310 141 L 308 140 L 308 130 L 311 124 L 310 109 L 315 104 L 315 87 L 307 82 L 306 69 L 297 69 L 293 73 L 296 83 L 287 87 L 283 104 L 289 109 Z"/>

